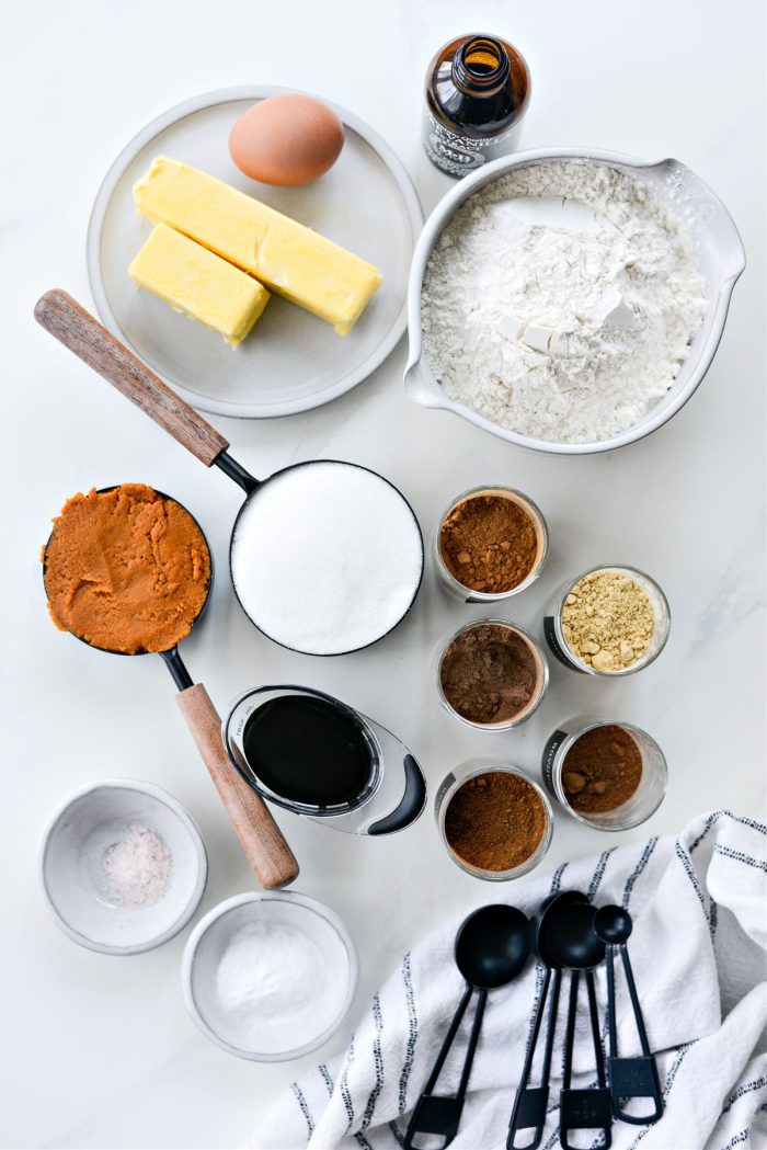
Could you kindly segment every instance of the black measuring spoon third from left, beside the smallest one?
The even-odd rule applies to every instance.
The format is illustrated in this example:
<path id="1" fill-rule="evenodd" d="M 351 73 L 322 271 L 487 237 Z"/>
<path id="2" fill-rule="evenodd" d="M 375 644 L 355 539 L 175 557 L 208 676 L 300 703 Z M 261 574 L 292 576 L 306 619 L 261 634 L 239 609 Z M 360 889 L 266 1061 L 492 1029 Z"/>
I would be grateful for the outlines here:
<path id="1" fill-rule="evenodd" d="M 570 971 L 570 996 L 565 1032 L 565 1066 L 562 1089 L 559 1095 L 559 1142 L 562 1150 L 576 1150 L 568 1141 L 570 1130 L 600 1132 L 599 1150 L 612 1144 L 613 1112 L 605 1078 L 605 1059 L 599 1035 L 599 1013 L 593 968 L 605 958 L 605 944 L 593 930 L 593 907 L 589 903 L 572 903 L 552 914 L 546 930 L 546 945 L 555 960 Z M 581 972 L 585 972 L 589 996 L 589 1018 L 593 1055 L 597 1065 L 597 1086 L 573 1089 L 573 1049 L 575 1020 L 578 1007 Z"/>

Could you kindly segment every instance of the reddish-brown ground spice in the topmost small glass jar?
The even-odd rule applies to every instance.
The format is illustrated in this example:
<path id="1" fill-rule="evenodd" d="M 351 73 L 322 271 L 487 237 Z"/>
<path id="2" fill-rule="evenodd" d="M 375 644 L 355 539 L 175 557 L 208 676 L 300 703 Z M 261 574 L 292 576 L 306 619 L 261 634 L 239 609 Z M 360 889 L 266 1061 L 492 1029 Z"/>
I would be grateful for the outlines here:
<path id="1" fill-rule="evenodd" d="M 439 546 L 451 575 L 471 591 L 500 595 L 532 570 L 538 540 L 532 519 L 504 494 L 462 499 L 445 516 Z"/>

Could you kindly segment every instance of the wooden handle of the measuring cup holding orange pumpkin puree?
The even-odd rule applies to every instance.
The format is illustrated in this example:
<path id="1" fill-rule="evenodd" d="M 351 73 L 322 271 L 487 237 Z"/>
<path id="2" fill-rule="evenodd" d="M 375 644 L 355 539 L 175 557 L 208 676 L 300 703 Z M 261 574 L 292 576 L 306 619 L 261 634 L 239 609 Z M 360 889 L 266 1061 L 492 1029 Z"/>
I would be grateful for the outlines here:
<path id="1" fill-rule="evenodd" d="M 285 887 L 298 876 L 298 862 L 271 812 L 229 761 L 221 719 L 201 683 L 176 696 L 186 726 L 205 759 L 237 837 L 262 887 Z"/>

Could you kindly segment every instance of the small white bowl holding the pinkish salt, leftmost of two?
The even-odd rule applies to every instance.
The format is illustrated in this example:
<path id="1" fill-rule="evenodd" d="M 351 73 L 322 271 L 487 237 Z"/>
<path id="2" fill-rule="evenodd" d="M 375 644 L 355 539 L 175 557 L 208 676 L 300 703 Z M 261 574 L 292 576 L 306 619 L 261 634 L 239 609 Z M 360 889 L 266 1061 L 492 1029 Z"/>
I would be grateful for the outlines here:
<path id="1" fill-rule="evenodd" d="M 103 852 L 125 823 L 160 835 L 172 866 L 166 895 L 148 906 L 107 902 Z M 84 787 L 53 814 L 43 836 L 39 873 L 45 904 L 74 942 L 102 954 L 139 954 L 182 930 L 200 905 L 208 859 L 200 831 L 167 791 L 138 779 Z"/>

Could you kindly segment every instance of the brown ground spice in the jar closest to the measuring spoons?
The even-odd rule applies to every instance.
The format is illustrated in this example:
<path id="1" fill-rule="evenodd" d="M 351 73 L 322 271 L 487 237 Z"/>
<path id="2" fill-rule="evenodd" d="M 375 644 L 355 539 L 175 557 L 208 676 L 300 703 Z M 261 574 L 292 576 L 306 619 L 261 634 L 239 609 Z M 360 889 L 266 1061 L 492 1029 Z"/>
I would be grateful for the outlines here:
<path id="1" fill-rule="evenodd" d="M 546 822 L 535 787 L 507 770 L 490 770 L 455 791 L 445 814 L 445 837 L 470 866 L 512 871 L 534 853 Z"/>

